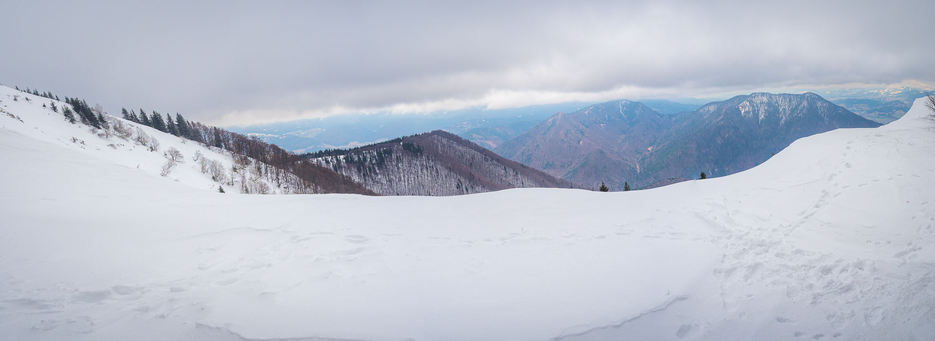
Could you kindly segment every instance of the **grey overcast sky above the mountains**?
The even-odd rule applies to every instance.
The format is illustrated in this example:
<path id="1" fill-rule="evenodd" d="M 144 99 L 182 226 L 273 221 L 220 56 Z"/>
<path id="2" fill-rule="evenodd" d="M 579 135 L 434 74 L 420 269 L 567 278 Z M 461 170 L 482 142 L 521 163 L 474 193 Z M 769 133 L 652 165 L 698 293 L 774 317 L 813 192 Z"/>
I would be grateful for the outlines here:
<path id="1" fill-rule="evenodd" d="M 932 84 L 935 1 L 4 1 L 0 82 L 231 125 Z"/>

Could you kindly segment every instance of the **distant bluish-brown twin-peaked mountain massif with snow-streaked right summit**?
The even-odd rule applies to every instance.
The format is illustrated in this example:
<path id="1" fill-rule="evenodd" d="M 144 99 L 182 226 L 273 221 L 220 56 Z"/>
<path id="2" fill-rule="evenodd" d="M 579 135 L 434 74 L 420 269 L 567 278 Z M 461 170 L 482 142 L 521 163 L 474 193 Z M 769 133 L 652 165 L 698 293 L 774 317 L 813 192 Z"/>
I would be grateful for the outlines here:
<path id="1" fill-rule="evenodd" d="M 496 149 L 512 160 L 611 191 L 725 176 L 763 163 L 796 139 L 838 128 L 876 127 L 817 94 L 757 92 L 661 115 L 611 101 L 558 113 Z"/>

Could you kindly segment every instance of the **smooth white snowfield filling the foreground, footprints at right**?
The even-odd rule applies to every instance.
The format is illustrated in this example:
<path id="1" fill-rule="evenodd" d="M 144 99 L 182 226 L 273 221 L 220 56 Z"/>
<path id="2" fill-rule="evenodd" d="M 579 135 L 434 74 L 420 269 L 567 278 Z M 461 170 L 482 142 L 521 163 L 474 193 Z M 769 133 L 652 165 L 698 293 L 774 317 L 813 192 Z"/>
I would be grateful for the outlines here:
<path id="1" fill-rule="evenodd" d="M 2 99 L 0 339 L 935 339 L 921 101 L 724 178 L 367 197 L 206 191 Z"/>

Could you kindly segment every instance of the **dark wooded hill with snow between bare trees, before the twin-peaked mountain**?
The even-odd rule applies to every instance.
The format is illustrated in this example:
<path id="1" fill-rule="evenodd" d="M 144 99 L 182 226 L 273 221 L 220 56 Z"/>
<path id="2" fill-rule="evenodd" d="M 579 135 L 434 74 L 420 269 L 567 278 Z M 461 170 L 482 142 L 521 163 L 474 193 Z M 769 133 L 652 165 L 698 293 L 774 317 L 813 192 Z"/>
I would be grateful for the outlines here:
<path id="1" fill-rule="evenodd" d="M 305 154 L 385 195 L 456 195 L 511 188 L 570 188 L 571 182 L 501 157 L 444 131 L 356 149 Z"/>

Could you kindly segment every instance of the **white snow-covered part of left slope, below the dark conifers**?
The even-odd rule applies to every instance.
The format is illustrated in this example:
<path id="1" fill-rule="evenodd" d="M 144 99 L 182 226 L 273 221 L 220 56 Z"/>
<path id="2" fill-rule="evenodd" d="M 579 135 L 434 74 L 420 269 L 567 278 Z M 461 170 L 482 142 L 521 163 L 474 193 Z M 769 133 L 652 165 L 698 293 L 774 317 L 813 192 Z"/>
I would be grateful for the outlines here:
<path id="1" fill-rule="evenodd" d="M 58 112 L 51 109 L 51 103 L 59 108 Z M 246 184 L 247 188 L 254 190 L 264 188 L 266 193 L 295 192 L 295 189 L 286 186 L 277 187 L 262 175 L 257 176 L 255 171 L 251 173 L 250 167 L 242 168 L 239 174 L 232 173 L 234 159 L 227 150 L 203 146 L 142 124 L 108 116 L 111 126 L 122 124 L 131 133 L 129 138 L 121 138 L 113 131 L 105 132 L 80 122 L 69 123 L 62 114 L 65 107 L 70 106 L 64 102 L 0 86 L 0 127 L 9 132 L 89 154 L 101 163 L 121 164 L 152 177 L 175 180 L 194 188 L 218 191 L 220 186 L 225 192 L 239 193 L 244 192 L 241 189 L 244 187 L 242 185 Z M 134 141 L 133 137 L 140 132 L 146 135 L 144 139 L 156 140 L 158 147 L 152 150 L 151 143 L 141 144 Z M 165 151 L 173 148 L 180 151 L 182 158 L 180 163 L 170 167 L 167 174 L 162 176 L 167 162 Z M 211 177 L 211 172 L 202 172 L 201 163 L 194 160 L 196 153 L 202 155 L 205 161 L 217 162 L 218 173 L 223 173 L 223 176 L 217 176 L 215 178 L 218 180 L 215 180 Z M 253 164 L 256 164 L 255 161 Z M 241 182 L 241 178 L 247 181 Z"/>

